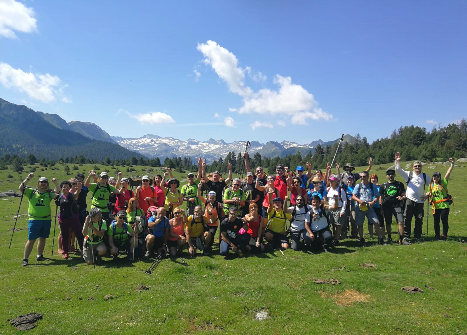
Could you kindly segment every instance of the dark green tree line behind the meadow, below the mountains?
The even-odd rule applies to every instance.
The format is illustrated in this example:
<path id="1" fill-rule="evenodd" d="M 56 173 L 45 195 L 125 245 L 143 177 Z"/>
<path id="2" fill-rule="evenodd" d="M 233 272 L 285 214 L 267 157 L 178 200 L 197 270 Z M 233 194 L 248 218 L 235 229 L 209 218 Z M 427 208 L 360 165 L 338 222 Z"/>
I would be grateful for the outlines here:
<path id="1" fill-rule="evenodd" d="M 280 163 L 295 169 L 297 165 L 305 166 L 306 162 L 311 163 L 312 169 L 323 168 L 327 162 L 333 160 L 334 153 L 338 147 L 338 142 L 333 146 L 321 147 L 317 145 L 314 150 L 310 150 L 304 156 L 301 152 L 296 154 L 288 154 L 285 157 L 279 156 L 270 158 L 262 157 L 261 154 L 255 153 L 253 156 L 248 154 L 248 160 L 251 168 L 261 166 L 273 173 L 276 166 Z M 460 120 L 458 123 L 449 124 L 448 126 L 434 126 L 431 131 L 427 131 L 424 127 L 419 126 L 404 126 L 394 130 L 389 137 L 375 140 L 369 144 L 366 137 L 361 137 L 360 134 L 355 135 L 354 143 L 341 143 L 336 162 L 353 163 L 355 166 L 364 166 L 368 162 L 368 157 L 375 159 L 375 164 L 385 164 L 394 161 L 394 154 L 400 152 L 401 156 L 406 161 L 420 159 L 422 161 L 447 161 L 450 157 L 454 159 L 466 157 L 467 155 L 467 121 Z M 37 153 L 39 155 L 39 153 Z M 206 165 L 207 172 L 228 171 L 228 162 L 232 164 L 233 173 L 240 173 L 244 170 L 243 153 L 230 152 L 226 157 L 219 157 L 219 160 L 213 161 Z M 29 154 L 25 158 L 14 154 L 2 154 L 0 156 L 0 169 L 6 169 L 7 166 L 12 166 L 16 171 L 21 171 L 22 164 L 42 163 L 53 166 L 56 162 L 71 163 L 71 164 L 104 164 L 114 166 L 150 166 L 150 167 L 170 167 L 178 172 L 197 171 L 198 165 L 190 157 L 165 157 L 161 162 L 159 157 L 153 159 L 145 159 L 142 156 L 132 156 L 128 159 L 111 159 L 106 157 L 100 161 L 91 159 L 84 155 L 73 157 L 60 157 L 58 161 L 46 160 L 45 158 L 38 159 L 34 154 Z"/>

